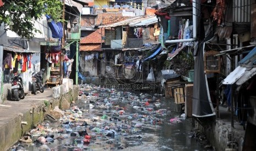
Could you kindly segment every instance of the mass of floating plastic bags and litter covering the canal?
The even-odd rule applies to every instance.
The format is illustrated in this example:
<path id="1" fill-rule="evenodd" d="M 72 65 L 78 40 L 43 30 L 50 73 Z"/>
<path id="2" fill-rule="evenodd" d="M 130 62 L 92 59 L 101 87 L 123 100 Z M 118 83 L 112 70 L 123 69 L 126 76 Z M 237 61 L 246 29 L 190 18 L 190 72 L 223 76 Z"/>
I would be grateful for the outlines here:
<path id="1" fill-rule="evenodd" d="M 155 95 L 88 84 L 80 85 L 78 101 L 70 109 L 55 107 L 51 113 L 52 118 L 58 115 L 57 122 L 48 118 L 36 125 L 12 150 L 125 149 L 146 142 L 144 132 L 186 119 L 171 116 Z"/>

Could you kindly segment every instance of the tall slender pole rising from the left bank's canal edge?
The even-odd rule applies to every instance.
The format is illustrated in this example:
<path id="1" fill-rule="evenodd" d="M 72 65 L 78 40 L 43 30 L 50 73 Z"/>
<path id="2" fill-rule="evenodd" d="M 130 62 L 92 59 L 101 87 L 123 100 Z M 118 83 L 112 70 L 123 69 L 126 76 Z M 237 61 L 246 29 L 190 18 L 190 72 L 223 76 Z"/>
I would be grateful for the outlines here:
<path id="1" fill-rule="evenodd" d="M 65 20 L 65 0 L 63 1 L 63 10 L 62 10 L 62 19 Z M 63 36 L 62 36 L 62 40 L 61 40 L 61 60 L 60 60 L 60 80 L 59 80 L 59 84 L 62 84 L 63 81 L 63 50 L 65 49 L 65 22 L 62 22 L 62 32 L 63 32 Z"/>

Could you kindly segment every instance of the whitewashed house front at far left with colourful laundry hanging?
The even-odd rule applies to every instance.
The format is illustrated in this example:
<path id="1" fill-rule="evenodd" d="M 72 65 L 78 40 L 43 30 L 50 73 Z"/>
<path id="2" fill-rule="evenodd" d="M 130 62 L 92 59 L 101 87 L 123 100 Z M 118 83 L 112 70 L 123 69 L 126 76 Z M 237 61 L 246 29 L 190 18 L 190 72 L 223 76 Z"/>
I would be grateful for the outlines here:
<path id="1" fill-rule="evenodd" d="M 40 42 L 45 39 L 43 32 L 43 21 L 46 18 L 35 21 L 35 28 L 42 34 L 34 33 L 33 39 L 24 39 L 16 33 L 5 30 L 5 26 L 1 25 L 1 100 L 6 100 L 10 91 L 10 78 L 14 74 L 21 73 L 23 79 L 24 91 L 28 92 L 31 88 L 31 74 L 39 72 L 41 66 L 41 47 Z M 17 59 L 20 56 L 20 59 Z M 15 61 L 19 63 L 15 64 Z M 24 67 L 24 68 L 23 68 Z"/>

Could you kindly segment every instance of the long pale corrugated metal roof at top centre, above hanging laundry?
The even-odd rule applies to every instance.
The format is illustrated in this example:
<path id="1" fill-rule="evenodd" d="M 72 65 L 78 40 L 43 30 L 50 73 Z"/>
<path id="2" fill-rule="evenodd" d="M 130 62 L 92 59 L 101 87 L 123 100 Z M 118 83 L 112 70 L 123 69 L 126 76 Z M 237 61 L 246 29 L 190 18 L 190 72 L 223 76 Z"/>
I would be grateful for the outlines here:
<path id="1" fill-rule="evenodd" d="M 134 18 L 130 18 L 127 20 L 115 22 L 114 24 L 99 26 L 99 28 L 102 27 L 117 27 L 117 26 L 148 26 L 151 24 L 155 24 L 157 22 L 156 16 L 137 16 Z"/>

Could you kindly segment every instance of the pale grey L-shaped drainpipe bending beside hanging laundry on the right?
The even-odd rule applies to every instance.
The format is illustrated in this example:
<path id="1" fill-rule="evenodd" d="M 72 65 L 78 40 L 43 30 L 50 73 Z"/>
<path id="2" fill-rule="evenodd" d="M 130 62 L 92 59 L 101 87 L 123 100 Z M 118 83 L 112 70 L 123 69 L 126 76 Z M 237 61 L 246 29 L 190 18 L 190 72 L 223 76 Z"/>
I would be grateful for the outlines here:
<path id="1" fill-rule="evenodd" d="M 192 1 L 192 14 L 193 14 L 193 38 L 190 39 L 176 39 L 176 40 L 166 40 L 165 43 L 183 43 L 183 42 L 194 42 L 197 39 L 197 0 Z"/>

